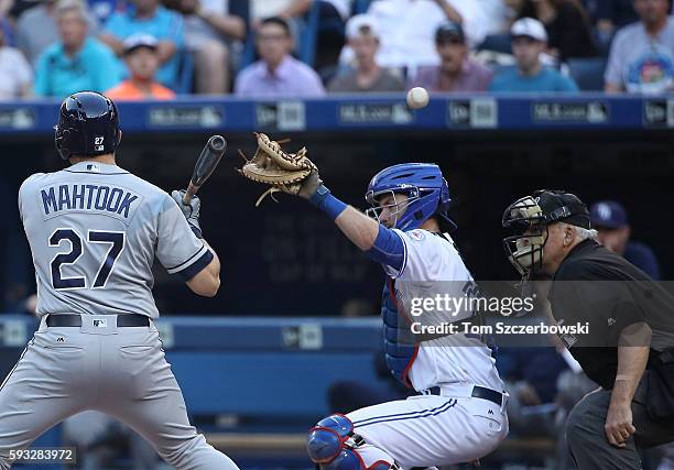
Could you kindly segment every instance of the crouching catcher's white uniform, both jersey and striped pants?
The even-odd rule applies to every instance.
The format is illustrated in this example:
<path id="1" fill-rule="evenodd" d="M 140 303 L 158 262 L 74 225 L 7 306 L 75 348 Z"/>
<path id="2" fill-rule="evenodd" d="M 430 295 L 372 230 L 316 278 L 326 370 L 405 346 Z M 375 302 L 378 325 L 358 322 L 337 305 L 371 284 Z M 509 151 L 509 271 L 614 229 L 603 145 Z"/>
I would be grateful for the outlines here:
<path id="1" fill-rule="evenodd" d="M 463 298 L 475 292 L 475 285 L 449 236 L 426 230 L 395 231 L 404 243 L 403 266 L 400 271 L 391 266 L 384 270 L 394 278 L 399 313 L 402 307 L 407 319 L 423 325 L 471 316 L 469 308 L 454 311 L 456 315 L 438 308 L 413 311 L 418 306 L 414 299 L 445 294 Z M 395 461 L 402 470 L 409 470 L 468 462 L 493 451 L 508 435 L 508 396 L 499 395 L 503 382 L 491 350 L 479 339 L 456 334 L 422 342 L 407 378 L 424 394 L 347 415 L 355 433 L 367 442 L 357 450 L 366 467 Z M 439 395 L 425 392 L 435 386 Z M 500 405 L 474 397 L 476 386 L 496 392 L 502 397 Z"/>

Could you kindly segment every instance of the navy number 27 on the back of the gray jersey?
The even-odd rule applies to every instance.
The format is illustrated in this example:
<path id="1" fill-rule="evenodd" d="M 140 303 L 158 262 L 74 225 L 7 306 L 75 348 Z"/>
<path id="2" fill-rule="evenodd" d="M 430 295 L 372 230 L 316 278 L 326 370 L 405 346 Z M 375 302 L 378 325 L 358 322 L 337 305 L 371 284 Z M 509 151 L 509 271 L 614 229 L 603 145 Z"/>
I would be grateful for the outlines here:
<path id="1" fill-rule="evenodd" d="M 85 277 L 63 277 L 61 273 L 62 265 L 74 264 L 83 253 L 81 238 L 73 229 L 58 229 L 54 231 L 52 237 L 50 237 L 50 247 L 59 247 L 61 242 L 64 240 L 70 242 L 70 251 L 67 253 L 59 253 L 52 260 L 52 286 L 55 289 L 86 287 L 87 280 Z M 124 233 L 89 230 L 88 242 L 110 244 L 110 250 L 108 250 L 106 259 L 98 269 L 96 280 L 91 286 L 93 288 L 105 287 L 106 281 L 108 281 L 112 267 L 115 267 L 117 258 L 124 249 Z"/>

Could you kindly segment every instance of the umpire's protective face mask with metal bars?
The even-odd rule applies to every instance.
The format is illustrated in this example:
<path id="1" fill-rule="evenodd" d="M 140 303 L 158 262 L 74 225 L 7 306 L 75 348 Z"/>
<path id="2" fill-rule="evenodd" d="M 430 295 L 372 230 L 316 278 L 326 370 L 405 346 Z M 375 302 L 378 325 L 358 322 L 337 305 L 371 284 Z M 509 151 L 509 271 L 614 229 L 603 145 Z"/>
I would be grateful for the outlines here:
<path id="1" fill-rule="evenodd" d="M 540 270 L 548 232 L 537 198 L 526 196 L 508 206 L 503 212 L 503 227 L 515 231 L 503 239 L 506 254 L 515 270 L 523 277 Z"/>

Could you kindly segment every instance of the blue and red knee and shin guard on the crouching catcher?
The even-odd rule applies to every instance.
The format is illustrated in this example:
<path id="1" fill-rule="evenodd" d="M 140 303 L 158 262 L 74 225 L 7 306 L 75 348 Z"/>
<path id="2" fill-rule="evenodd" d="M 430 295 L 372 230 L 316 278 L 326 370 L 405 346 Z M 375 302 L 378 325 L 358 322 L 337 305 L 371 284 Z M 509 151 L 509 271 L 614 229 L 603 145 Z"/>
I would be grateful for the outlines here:
<path id="1" fill-rule="evenodd" d="M 359 448 L 361 450 L 369 448 L 367 453 L 376 450 L 374 462 L 367 464 Z M 312 461 L 322 470 L 398 469 L 393 459 L 383 450 L 367 446 L 362 437 L 354 434 L 351 420 L 339 414 L 319 420 L 309 430 L 306 450 Z"/>

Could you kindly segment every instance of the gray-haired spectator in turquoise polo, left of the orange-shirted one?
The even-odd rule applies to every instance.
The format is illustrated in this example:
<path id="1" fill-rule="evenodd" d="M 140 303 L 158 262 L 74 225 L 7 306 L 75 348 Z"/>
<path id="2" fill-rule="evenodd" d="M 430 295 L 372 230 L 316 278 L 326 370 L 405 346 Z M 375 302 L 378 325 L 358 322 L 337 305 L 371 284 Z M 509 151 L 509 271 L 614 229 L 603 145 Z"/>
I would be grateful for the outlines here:
<path id="1" fill-rule="evenodd" d="M 115 54 L 95 37 L 87 37 L 84 6 L 63 1 L 56 7 L 61 41 L 42 54 L 35 70 L 35 95 L 66 97 L 80 90 L 104 91 L 120 81 Z"/>

